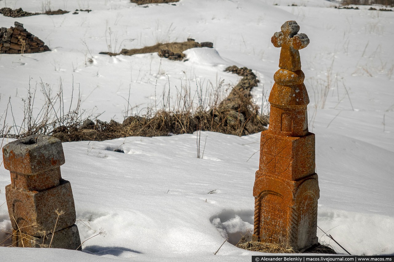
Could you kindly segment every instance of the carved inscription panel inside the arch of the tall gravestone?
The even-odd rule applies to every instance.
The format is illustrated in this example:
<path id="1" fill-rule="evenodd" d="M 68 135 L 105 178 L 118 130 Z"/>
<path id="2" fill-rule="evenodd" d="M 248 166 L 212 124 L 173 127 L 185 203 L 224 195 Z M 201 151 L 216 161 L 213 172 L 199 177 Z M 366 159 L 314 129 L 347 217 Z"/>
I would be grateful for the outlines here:
<path id="1" fill-rule="evenodd" d="M 260 236 L 266 242 L 282 243 L 286 239 L 287 210 L 280 196 L 267 195 L 261 200 L 262 228 Z"/>

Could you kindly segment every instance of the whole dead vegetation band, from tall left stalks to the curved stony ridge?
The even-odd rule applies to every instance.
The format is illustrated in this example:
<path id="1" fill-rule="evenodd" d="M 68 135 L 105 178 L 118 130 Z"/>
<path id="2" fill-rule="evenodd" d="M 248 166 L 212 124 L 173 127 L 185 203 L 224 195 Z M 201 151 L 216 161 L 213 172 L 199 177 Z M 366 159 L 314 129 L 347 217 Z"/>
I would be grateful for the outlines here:
<path id="1" fill-rule="evenodd" d="M 170 108 L 169 96 L 163 94 L 162 109 L 148 109 L 144 115 L 132 115 L 123 123 L 114 120 L 100 121 L 99 115 L 93 116 L 80 109 L 80 97 L 74 98 L 74 109 L 63 102 L 63 90 L 56 94 L 51 86 L 41 83 L 46 96 L 46 104 L 34 112 L 35 90 L 28 89 L 28 97 L 24 100 L 24 118 L 21 124 L 6 125 L 7 111 L 3 114 L 2 137 L 22 138 L 32 134 L 53 135 L 63 142 L 81 140 L 108 140 L 128 136 L 166 136 L 169 134 L 185 134 L 195 131 L 213 131 L 231 135 L 249 135 L 266 129 L 268 116 L 259 114 L 258 106 L 251 99 L 250 91 L 257 85 L 258 79 L 252 70 L 230 66 L 227 71 L 243 76 L 223 99 L 224 81 L 220 81 L 215 90 L 206 90 L 212 95 L 209 98 L 203 87 L 197 91 L 197 105 L 193 105 L 190 94 L 180 93 L 176 98 L 176 107 Z M 209 91 L 209 92 L 208 92 Z M 73 91 L 74 92 L 74 91 Z M 212 94 L 213 93 L 213 94 Z M 75 103 L 76 102 L 76 103 Z M 9 109 L 11 104 L 9 101 Z M 68 109 L 68 110 L 67 110 Z M 9 113 L 9 112 L 8 112 Z M 12 113 L 12 112 L 11 112 Z M 92 121 L 93 119 L 94 121 Z"/>

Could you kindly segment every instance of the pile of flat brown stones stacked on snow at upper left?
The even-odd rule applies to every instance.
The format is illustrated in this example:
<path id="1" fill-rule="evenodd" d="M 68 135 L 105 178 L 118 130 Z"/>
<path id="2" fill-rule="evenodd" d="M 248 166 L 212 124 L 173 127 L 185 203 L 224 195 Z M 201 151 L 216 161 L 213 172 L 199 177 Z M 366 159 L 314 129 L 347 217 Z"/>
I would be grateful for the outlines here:
<path id="1" fill-rule="evenodd" d="M 29 54 L 50 51 L 38 37 L 15 22 L 15 27 L 0 29 L 0 54 Z"/>

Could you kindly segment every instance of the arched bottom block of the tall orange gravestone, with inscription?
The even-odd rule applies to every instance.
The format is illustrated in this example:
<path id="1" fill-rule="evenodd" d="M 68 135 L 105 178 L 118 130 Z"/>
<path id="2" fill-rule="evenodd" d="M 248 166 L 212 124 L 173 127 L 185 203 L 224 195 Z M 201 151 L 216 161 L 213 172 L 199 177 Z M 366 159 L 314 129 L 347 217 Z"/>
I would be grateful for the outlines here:
<path id="1" fill-rule="evenodd" d="M 252 239 L 303 250 L 318 243 L 318 175 L 299 181 L 261 176 L 255 181 L 255 229 Z M 258 240 L 256 240 L 258 239 Z"/>

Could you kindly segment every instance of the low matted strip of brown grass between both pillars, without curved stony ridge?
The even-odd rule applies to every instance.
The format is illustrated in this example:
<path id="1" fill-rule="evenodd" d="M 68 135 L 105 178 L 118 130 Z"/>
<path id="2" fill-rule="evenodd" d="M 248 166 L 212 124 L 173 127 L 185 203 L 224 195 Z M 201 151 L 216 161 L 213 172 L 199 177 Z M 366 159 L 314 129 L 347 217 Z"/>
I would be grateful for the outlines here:
<path id="1" fill-rule="evenodd" d="M 250 106 L 253 108 L 253 105 Z M 197 112 L 160 110 L 151 115 L 130 116 L 123 124 L 96 120 L 91 129 L 64 126 L 63 129 L 55 129 L 52 135 L 63 142 L 99 141 L 129 136 L 157 137 L 190 134 L 197 130 L 242 136 L 266 130 L 267 124 L 267 117 L 260 116 L 257 107 L 249 112 L 246 119 L 236 111 L 221 111 L 220 108 Z"/>

